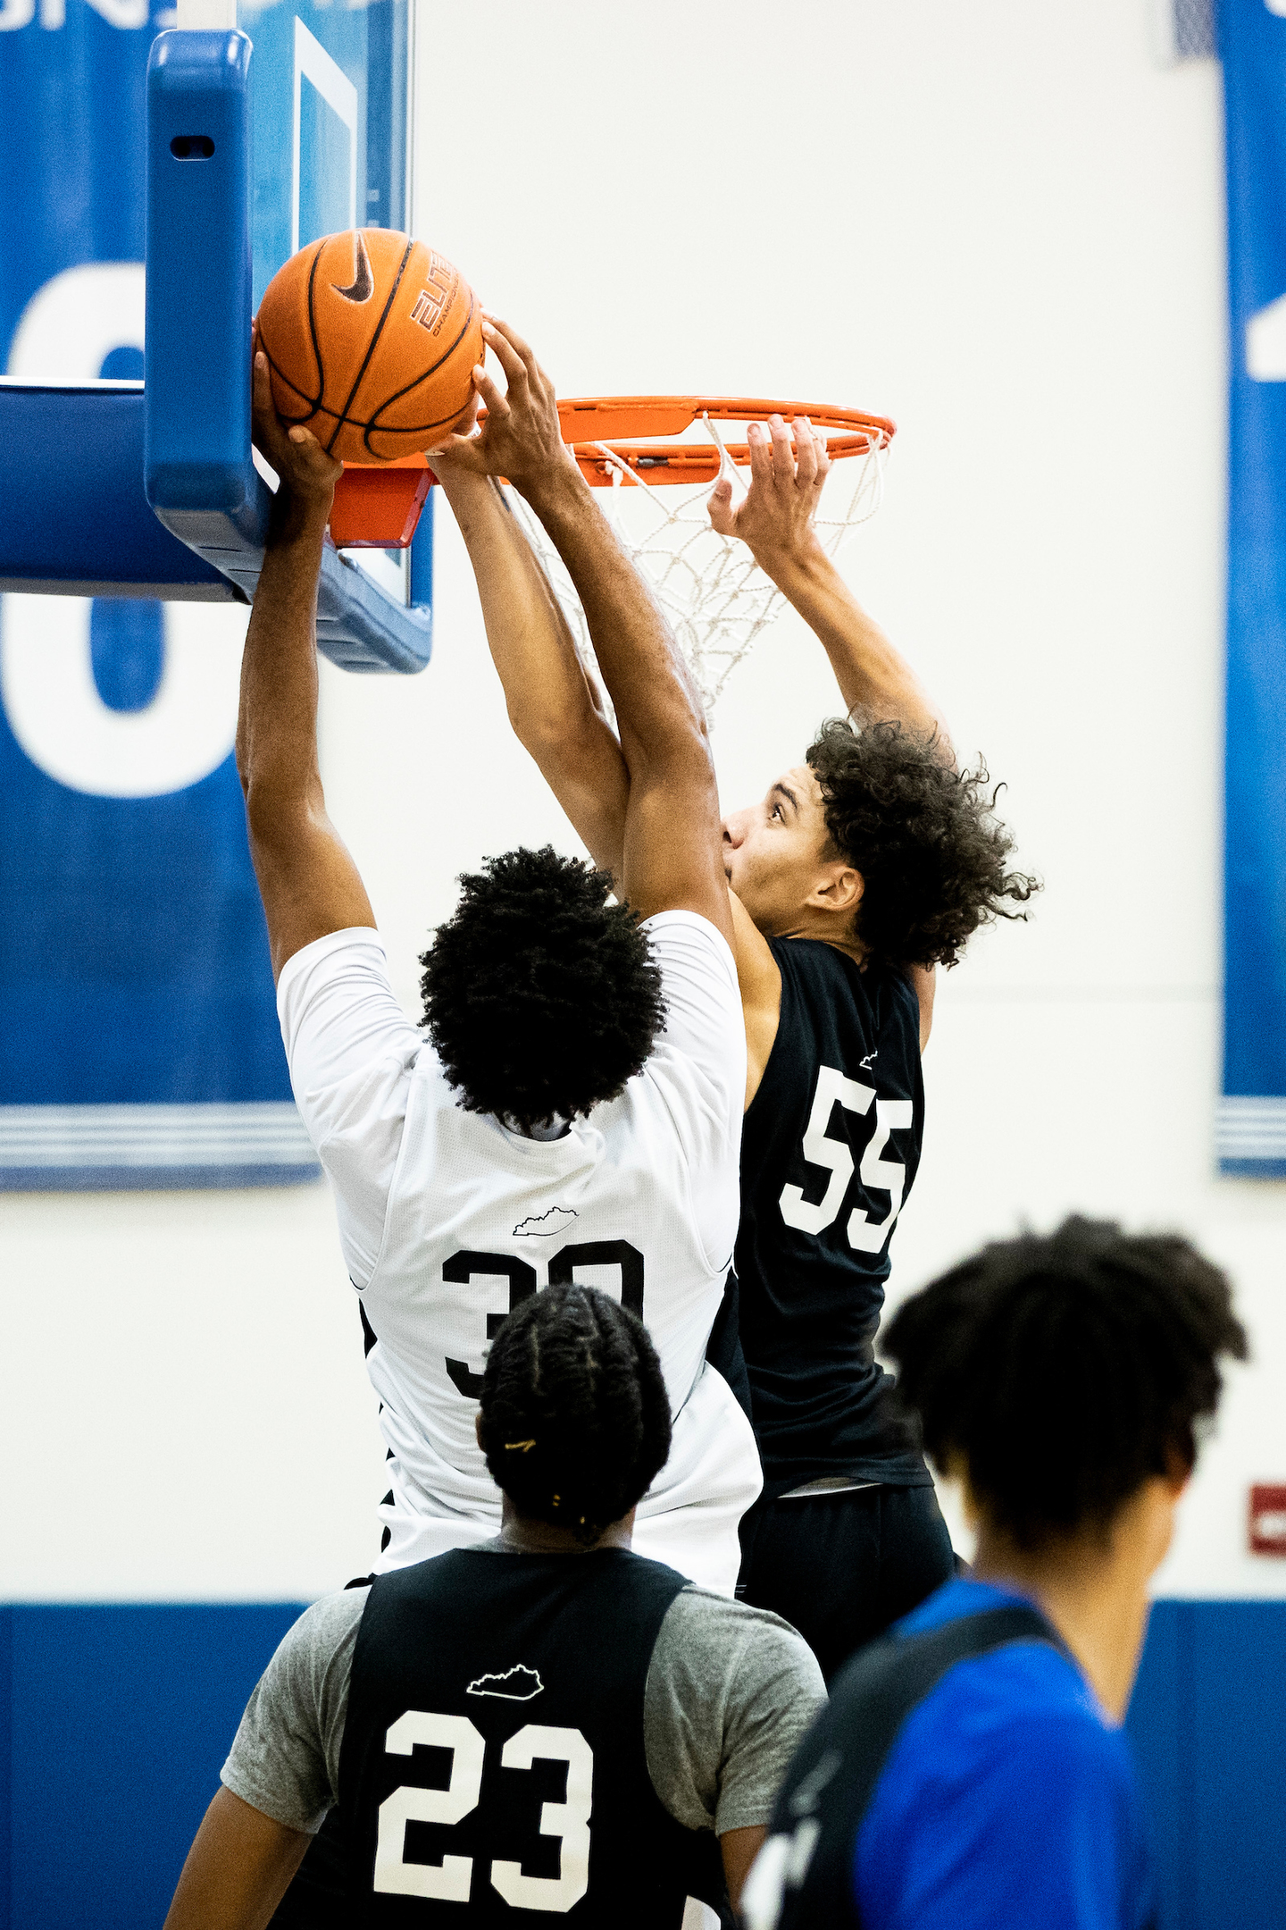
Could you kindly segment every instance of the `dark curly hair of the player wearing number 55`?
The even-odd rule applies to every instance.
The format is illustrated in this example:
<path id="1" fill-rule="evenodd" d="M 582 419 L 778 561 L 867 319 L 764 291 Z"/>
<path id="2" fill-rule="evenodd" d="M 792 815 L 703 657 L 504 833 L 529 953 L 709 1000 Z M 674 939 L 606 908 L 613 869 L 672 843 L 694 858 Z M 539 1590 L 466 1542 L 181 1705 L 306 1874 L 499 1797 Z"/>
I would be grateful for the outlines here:
<path id="1" fill-rule="evenodd" d="M 985 764 L 956 770 L 937 735 L 843 718 L 808 747 L 831 845 L 862 872 L 856 936 L 889 965 L 954 965 L 979 924 L 1022 919 L 1005 899 L 1039 890 L 1006 870 L 1014 840 L 995 816 Z"/>

